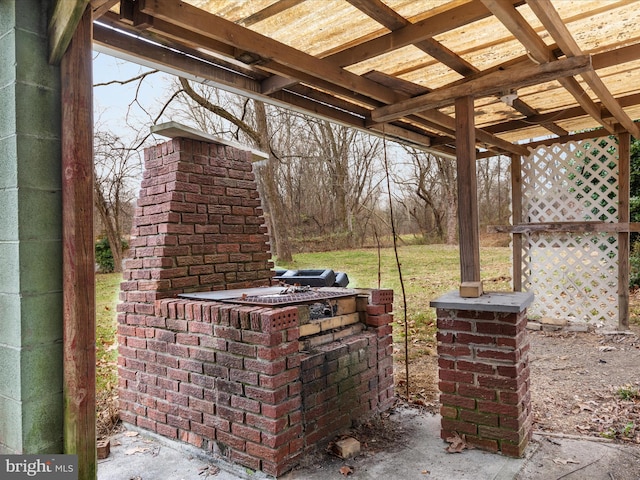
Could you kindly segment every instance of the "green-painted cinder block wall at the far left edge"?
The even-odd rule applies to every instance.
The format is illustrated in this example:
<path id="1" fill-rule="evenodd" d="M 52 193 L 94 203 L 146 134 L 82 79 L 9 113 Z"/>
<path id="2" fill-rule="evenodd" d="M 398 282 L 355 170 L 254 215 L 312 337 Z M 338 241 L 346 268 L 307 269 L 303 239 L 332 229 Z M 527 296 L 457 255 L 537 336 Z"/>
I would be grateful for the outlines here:
<path id="1" fill-rule="evenodd" d="M 62 453 L 60 71 L 54 2 L 0 0 L 0 453 Z"/>

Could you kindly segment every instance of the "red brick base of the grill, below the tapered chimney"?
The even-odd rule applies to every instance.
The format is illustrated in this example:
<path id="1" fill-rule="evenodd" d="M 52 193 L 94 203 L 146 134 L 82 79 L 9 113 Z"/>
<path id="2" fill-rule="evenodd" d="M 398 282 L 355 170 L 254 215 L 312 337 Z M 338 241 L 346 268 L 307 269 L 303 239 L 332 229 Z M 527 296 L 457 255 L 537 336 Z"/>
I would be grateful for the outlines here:
<path id="1" fill-rule="evenodd" d="M 163 299 L 146 319 L 118 328 L 122 420 L 254 470 L 393 403 L 389 325 L 301 352 L 297 307 Z"/>

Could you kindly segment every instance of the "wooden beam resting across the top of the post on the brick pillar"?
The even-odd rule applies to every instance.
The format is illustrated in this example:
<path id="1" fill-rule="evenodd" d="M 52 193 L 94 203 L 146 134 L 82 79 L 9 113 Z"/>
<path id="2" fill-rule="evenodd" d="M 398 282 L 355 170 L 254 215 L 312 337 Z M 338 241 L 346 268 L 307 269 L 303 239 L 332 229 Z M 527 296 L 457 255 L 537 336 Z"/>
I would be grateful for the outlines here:
<path id="1" fill-rule="evenodd" d="M 527 65 L 469 80 L 452 87 L 442 87 L 418 97 L 409 98 L 394 105 L 376 108 L 371 118 L 376 122 L 388 122 L 397 118 L 451 105 L 464 95 L 482 97 L 499 93 L 505 89 L 518 89 L 530 85 L 546 83 L 560 77 L 567 77 L 591 68 L 591 57 L 583 55 L 565 60 Z"/>

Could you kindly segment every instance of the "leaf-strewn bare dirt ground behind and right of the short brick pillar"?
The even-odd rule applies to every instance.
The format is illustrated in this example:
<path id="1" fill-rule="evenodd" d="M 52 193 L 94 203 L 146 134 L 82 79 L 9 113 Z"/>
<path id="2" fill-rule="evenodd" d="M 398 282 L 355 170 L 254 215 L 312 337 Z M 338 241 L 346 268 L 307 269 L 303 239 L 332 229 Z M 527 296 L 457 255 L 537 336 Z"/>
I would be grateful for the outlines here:
<path id="1" fill-rule="evenodd" d="M 640 327 L 630 331 L 529 332 L 534 431 L 640 444 Z M 396 394 L 406 399 L 403 349 L 395 356 Z M 436 413 L 437 357 L 411 357 L 409 403 Z"/>

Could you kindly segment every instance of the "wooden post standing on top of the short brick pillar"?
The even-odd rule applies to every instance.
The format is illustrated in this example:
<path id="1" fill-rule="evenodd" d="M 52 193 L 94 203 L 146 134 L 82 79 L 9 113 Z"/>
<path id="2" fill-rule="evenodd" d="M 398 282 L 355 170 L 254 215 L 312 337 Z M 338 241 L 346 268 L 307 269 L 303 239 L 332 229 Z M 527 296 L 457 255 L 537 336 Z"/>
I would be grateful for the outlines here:
<path id="1" fill-rule="evenodd" d="M 480 234 L 473 97 L 456 99 L 460 281 L 480 281 Z"/>

